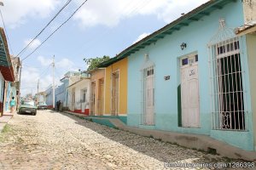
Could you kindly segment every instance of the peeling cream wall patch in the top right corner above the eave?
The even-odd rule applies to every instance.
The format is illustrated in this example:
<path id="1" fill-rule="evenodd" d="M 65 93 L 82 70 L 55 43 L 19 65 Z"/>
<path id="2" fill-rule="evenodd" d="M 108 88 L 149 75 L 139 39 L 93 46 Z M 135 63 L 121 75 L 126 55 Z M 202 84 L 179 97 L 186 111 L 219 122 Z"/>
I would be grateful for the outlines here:
<path id="1" fill-rule="evenodd" d="M 242 0 L 242 3 L 245 23 L 256 20 L 256 0 Z"/>

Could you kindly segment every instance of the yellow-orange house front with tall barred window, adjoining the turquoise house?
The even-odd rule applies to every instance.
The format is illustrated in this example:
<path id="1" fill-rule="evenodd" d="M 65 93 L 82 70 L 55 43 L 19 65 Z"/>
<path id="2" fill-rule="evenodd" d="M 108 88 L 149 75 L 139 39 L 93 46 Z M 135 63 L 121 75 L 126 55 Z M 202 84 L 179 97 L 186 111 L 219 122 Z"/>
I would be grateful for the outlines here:
<path id="1" fill-rule="evenodd" d="M 128 59 L 108 59 L 105 67 L 105 113 L 104 116 L 126 116 L 127 114 L 127 66 Z"/>

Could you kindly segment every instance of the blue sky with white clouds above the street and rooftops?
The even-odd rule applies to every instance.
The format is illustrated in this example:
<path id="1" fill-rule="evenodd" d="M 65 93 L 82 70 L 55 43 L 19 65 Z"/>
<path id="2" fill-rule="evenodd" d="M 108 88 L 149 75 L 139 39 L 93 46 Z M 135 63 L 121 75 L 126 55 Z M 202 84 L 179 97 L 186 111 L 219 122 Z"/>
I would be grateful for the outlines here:
<path id="1" fill-rule="evenodd" d="M 0 0 L 4 4 L 0 6 L 3 14 L 0 26 L 3 27 L 4 21 L 9 53 L 17 56 L 67 1 Z M 176 20 L 181 14 L 206 2 L 207 0 L 88 0 L 84 3 L 84 0 L 72 0 L 19 55 L 23 59 L 21 96 L 36 94 L 38 82 L 40 92 L 52 84 L 53 56 L 55 84 L 60 84 L 60 79 L 67 71 L 86 70 L 88 65 L 85 65 L 84 58 L 103 55 L 114 57 L 143 37 Z M 84 5 L 79 8 L 82 3 Z M 77 8 L 77 13 L 61 26 Z M 59 26 L 61 28 L 49 37 Z M 47 37 L 49 39 L 44 42 Z M 36 48 L 38 49 L 31 54 Z"/>

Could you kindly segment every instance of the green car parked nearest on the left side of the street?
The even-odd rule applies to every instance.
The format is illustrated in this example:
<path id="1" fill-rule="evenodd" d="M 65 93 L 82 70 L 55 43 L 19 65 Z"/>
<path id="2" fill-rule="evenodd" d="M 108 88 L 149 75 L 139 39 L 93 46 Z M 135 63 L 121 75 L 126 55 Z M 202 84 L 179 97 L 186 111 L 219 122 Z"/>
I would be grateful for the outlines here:
<path id="1" fill-rule="evenodd" d="M 29 114 L 32 114 L 33 116 L 36 116 L 37 106 L 35 105 L 35 102 L 33 100 L 21 101 L 18 114 L 21 114 L 21 113 L 29 113 Z"/>

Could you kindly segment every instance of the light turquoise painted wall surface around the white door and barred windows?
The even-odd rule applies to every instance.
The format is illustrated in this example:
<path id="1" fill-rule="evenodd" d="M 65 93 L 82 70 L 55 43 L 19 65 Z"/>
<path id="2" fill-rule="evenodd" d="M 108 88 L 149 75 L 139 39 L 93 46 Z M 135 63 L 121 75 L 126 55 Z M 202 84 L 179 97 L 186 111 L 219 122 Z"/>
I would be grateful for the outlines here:
<path id="1" fill-rule="evenodd" d="M 163 39 L 131 54 L 128 57 L 128 115 L 127 124 L 131 127 L 140 126 L 142 111 L 141 103 L 141 68 L 144 63 L 144 55 L 154 62 L 155 78 L 155 127 L 156 129 L 174 131 L 180 133 L 207 134 L 212 138 L 225 141 L 229 144 L 241 147 L 244 150 L 253 150 L 253 133 L 251 106 L 247 105 L 248 131 L 227 132 L 212 131 L 211 127 L 211 96 L 209 95 L 209 68 L 207 43 L 218 31 L 218 20 L 224 18 L 226 26 L 236 28 L 243 25 L 243 12 L 241 1 L 229 3 L 222 9 L 213 11 L 210 15 L 201 18 L 175 31 L 172 35 L 166 35 Z M 187 48 L 181 50 L 180 44 L 187 43 Z M 241 39 L 241 47 L 246 49 L 245 37 Z M 245 50 L 246 51 L 246 50 Z M 178 127 L 178 100 L 177 88 L 180 85 L 180 57 L 197 53 L 199 58 L 199 93 L 200 93 L 200 128 Z M 246 52 L 241 54 L 244 63 L 247 63 Z M 247 64 L 242 65 L 247 71 Z M 171 76 L 165 81 L 164 77 Z M 249 84 L 249 77 L 243 77 Z M 249 89 L 249 86 L 247 86 Z M 250 100 L 249 94 L 246 96 Z M 249 102 L 248 102 L 249 103 Z M 224 135 L 227 133 L 229 135 Z M 242 136 L 242 138 L 241 138 Z M 238 139 L 241 138 L 241 139 Z M 247 142 L 243 142 L 246 140 Z"/>

